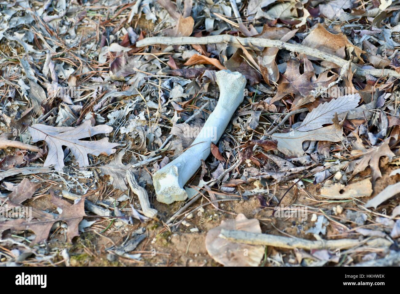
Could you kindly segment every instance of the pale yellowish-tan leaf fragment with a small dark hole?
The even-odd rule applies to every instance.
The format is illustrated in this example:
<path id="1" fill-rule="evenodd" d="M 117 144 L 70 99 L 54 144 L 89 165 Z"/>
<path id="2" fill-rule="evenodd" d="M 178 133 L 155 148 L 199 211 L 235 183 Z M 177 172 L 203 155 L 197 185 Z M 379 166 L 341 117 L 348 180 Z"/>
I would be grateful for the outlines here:
<path id="1" fill-rule="evenodd" d="M 351 184 L 334 183 L 326 181 L 324 188 L 320 191 L 320 196 L 330 199 L 346 199 L 369 197 L 372 194 L 372 183 L 370 179 L 365 179 Z"/>

